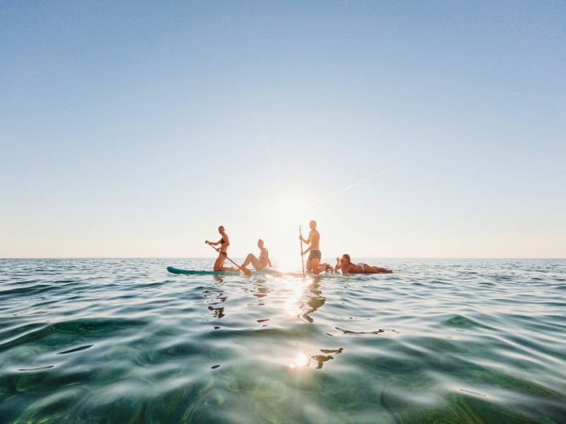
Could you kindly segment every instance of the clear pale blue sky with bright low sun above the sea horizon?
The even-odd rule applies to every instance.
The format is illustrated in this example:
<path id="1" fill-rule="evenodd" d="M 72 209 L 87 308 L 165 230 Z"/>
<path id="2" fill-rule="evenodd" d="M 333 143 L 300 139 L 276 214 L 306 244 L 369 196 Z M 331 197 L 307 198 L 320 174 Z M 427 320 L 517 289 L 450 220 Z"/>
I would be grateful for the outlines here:
<path id="1" fill-rule="evenodd" d="M 0 257 L 564 258 L 565 75 L 564 1 L 0 0 Z"/>

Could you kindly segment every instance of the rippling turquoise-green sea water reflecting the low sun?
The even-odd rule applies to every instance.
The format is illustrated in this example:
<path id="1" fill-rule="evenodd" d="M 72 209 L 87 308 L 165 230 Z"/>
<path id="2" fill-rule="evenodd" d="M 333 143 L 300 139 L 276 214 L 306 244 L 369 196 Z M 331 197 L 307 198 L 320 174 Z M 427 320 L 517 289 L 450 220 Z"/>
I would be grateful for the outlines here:
<path id="1" fill-rule="evenodd" d="M 566 260 L 0 260 L 1 423 L 564 423 Z"/>

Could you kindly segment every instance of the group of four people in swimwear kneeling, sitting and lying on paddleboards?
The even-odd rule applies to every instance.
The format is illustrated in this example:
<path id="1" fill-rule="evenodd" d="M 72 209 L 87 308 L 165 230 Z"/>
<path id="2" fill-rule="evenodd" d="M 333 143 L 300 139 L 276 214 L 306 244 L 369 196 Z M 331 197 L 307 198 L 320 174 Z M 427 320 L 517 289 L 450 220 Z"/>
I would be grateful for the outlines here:
<path id="1" fill-rule="evenodd" d="M 301 241 L 301 255 L 308 253 L 308 258 L 306 259 L 306 271 L 308 273 L 319 274 L 321 272 L 331 272 L 335 273 L 338 270 L 342 271 L 343 274 L 350 273 L 392 273 L 391 269 L 381 268 L 379 266 L 371 266 L 369 264 L 364 264 L 362 262 L 358 264 L 352 263 L 349 254 L 342 254 L 342 257 L 336 258 L 336 265 L 331 266 L 324 262 L 320 262 L 322 259 L 322 254 L 320 254 L 320 232 L 316 229 L 316 221 L 311 220 L 308 224 L 311 230 L 308 232 L 308 238 L 304 238 L 299 231 L 299 240 Z M 255 257 L 254 254 L 248 254 L 246 259 L 244 259 L 241 265 L 236 264 L 228 257 L 228 247 L 230 246 L 230 238 L 224 230 L 224 226 L 220 225 L 218 232 L 221 235 L 221 239 L 217 242 L 210 242 L 209 240 L 204 240 L 207 245 L 214 247 L 216 252 L 219 253 L 216 261 L 214 261 L 214 271 L 237 271 L 240 269 L 244 273 L 250 273 L 250 270 L 246 268 L 248 265 L 252 265 L 256 270 L 263 271 L 267 268 L 272 268 L 270 261 L 269 251 L 265 248 L 263 240 L 258 240 L 258 248 L 260 249 L 260 257 Z M 303 243 L 308 245 L 307 249 L 303 250 Z M 215 247 L 219 246 L 219 247 Z M 232 264 L 236 265 L 226 267 L 224 266 L 224 261 L 228 259 Z"/>

